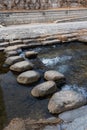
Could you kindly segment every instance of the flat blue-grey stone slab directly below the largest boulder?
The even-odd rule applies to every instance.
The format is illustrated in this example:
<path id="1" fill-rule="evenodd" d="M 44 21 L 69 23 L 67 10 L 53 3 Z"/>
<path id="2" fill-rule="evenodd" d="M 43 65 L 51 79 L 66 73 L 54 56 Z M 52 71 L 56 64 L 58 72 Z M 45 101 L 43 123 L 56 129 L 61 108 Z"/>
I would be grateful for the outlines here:
<path id="1" fill-rule="evenodd" d="M 85 116 L 86 114 L 87 114 L 87 105 L 71 111 L 61 113 L 58 117 L 64 120 L 64 122 L 71 122 L 76 118 Z"/>

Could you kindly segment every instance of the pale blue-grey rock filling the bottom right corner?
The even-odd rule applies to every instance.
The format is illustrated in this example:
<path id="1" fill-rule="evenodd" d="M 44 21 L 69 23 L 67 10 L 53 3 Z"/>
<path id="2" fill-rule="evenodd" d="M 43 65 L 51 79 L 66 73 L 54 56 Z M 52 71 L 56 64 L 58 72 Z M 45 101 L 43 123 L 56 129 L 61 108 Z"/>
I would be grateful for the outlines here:
<path id="1" fill-rule="evenodd" d="M 87 114 L 69 123 L 66 130 L 87 130 Z"/>

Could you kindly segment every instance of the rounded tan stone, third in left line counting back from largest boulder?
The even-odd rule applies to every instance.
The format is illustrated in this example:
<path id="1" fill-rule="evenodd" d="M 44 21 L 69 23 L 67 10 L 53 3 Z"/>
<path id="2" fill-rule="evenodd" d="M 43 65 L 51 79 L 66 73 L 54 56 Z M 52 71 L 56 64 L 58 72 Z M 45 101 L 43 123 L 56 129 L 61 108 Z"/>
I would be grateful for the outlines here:
<path id="1" fill-rule="evenodd" d="M 36 71 L 26 71 L 21 73 L 18 77 L 17 77 L 17 81 L 18 83 L 21 84 L 31 84 L 34 83 L 36 81 L 38 81 L 40 78 L 40 74 Z"/>

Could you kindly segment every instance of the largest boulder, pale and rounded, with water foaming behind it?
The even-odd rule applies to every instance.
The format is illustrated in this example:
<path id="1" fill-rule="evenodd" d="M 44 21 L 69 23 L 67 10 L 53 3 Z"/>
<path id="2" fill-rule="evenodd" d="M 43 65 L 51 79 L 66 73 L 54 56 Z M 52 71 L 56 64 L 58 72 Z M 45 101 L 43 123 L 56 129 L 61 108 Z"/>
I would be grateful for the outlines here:
<path id="1" fill-rule="evenodd" d="M 78 108 L 86 104 L 86 98 L 75 91 L 66 90 L 55 93 L 49 101 L 48 109 L 51 113 L 61 113 Z"/>

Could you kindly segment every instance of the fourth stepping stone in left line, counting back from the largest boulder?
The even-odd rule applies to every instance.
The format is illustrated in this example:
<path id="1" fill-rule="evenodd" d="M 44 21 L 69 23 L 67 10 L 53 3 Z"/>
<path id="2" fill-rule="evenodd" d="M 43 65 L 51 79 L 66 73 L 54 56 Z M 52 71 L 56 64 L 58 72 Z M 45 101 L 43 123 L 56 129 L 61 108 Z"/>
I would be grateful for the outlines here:
<path id="1" fill-rule="evenodd" d="M 21 61 L 10 66 L 10 70 L 16 72 L 23 72 L 33 68 L 33 64 L 30 61 Z"/>

